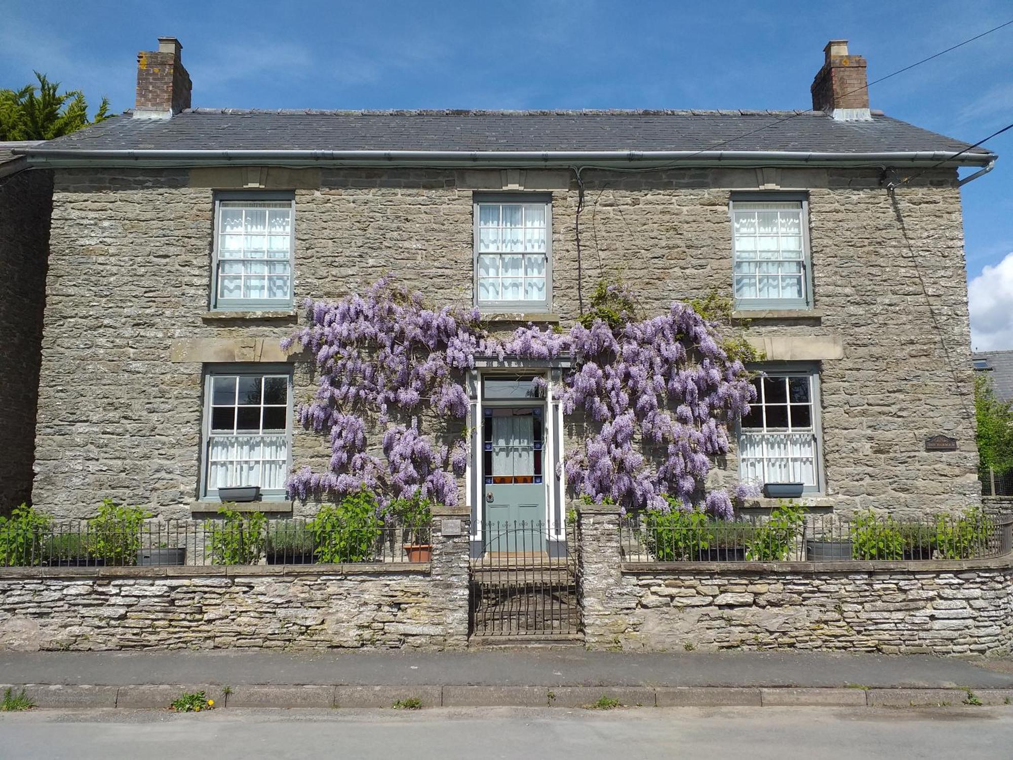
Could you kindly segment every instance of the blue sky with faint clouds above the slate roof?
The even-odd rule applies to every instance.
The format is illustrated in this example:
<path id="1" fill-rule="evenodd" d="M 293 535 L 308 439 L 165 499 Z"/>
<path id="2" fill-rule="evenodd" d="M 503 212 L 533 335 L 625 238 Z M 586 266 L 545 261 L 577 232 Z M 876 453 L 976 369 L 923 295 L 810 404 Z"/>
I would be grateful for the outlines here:
<path id="1" fill-rule="evenodd" d="M 832 37 L 871 81 L 1011 18 L 1008 0 L 5 0 L 0 87 L 37 69 L 123 110 L 137 52 L 171 34 L 203 106 L 807 108 Z M 871 105 L 975 142 L 1013 122 L 1011 64 L 1013 26 L 873 86 Z M 989 268 L 972 297 L 994 307 L 976 344 L 1013 349 L 1013 131 L 989 147 L 1003 159 L 963 188 L 969 279 Z"/>

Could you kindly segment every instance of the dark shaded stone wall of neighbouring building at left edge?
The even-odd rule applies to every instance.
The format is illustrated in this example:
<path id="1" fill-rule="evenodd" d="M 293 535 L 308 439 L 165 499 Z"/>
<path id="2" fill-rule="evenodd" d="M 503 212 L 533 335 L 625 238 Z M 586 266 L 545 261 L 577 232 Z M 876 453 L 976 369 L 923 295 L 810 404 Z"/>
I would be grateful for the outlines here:
<path id="1" fill-rule="evenodd" d="M 31 501 L 53 172 L 0 176 L 0 515 Z"/>

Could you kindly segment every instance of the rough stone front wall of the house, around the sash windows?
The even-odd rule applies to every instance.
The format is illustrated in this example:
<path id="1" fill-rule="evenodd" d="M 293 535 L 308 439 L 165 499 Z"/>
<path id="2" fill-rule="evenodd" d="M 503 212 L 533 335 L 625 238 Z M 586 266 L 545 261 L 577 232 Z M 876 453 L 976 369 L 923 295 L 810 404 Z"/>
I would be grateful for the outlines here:
<path id="1" fill-rule="evenodd" d="M 103 497 L 162 517 L 189 514 L 200 496 L 202 357 L 294 362 L 297 397 L 313 392 L 304 358 L 277 348 L 301 315 L 207 313 L 215 188 L 295 191 L 297 303 L 361 291 L 386 272 L 434 303 L 470 304 L 473 192 L 502 189 L 511 173 L 60 170 L 36 502 L 66 516 L 91 514 Z M 781 347 L 772 360 L 821 364 L 824 501 L 898 514 L 979 503 L 952 171 L 926 173 L 894 198 L 864 169 L 588 170 L 579 260 L 572 177 L 516 173 L 514 184 L 552 193 L 552 307 L 563 327 L 602 277 L 635 284 L 648 311 L 729 292 L 730 193 L 807 189 L 815 310 L 755 319 L 751 334 Z M 843 349 L 821 353 L 827 346 Z M 958 450 L 926 452 L 936 434 L 956 438 Z M 293 450 L 297 466 L 326 466 L 322 437 L 297 431 Z M 723 466 L 715 484 L 736 479 L 733 452 Z"/>

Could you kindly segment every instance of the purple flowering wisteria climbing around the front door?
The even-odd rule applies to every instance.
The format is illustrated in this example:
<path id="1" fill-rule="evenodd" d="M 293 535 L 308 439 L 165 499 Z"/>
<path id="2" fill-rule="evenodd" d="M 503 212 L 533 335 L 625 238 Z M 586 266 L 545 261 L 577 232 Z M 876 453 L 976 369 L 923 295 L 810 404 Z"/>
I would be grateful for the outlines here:
<path id="1" fill-rule="evenodd" d="M 728 451 L 728 426 L 748 412 L 755 389 L 716 323 L 688 304 L 641 317 L 627 289 L 603 285 L 568 332 L 529 325 L 500 340 L 477 310 L 431 307 L 385 278 L 365 295 L 308 301 L 307 313 L 307 326 L 285 345 L 315 355 L 319 385 L 298 419 L 329 438 L 331 457 L 326 471 L 292 474 L 295 497 L 365 486 L 386 500 L 417 492 L 457 504 L 468 461 L 460 435 L 466 372 L 479 357 L 564 356 L 572 369 L 552 393 L 580 431 L 581 445 L 562 464 L 574 495 L 625 510 L 702 507 L 726 518 L 734 500 L 754 492 L 705 488 Z M 369 440 L 378 428 L 379 448 Z"/>

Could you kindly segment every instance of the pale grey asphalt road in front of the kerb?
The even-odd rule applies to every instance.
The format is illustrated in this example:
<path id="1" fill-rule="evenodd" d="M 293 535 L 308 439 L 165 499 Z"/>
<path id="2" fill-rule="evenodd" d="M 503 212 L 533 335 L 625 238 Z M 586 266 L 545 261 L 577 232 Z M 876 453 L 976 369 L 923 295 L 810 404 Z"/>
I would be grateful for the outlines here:
<path id="1" fill-rule="evenodd" d="M 1013 709 L 35 710 L 0 715 L 0 758 L 1008 758 Z"/>

